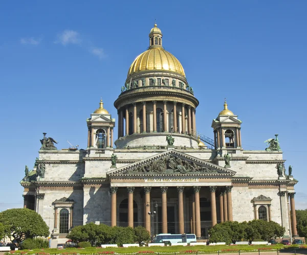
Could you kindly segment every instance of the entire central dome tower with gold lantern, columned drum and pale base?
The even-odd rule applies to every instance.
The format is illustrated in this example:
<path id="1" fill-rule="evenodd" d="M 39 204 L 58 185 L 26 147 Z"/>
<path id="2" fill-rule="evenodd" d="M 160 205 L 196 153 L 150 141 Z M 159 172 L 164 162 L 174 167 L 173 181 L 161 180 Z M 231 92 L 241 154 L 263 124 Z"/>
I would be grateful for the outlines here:
<path id="1" fill-rule="evenodd" d="M 150 30 L 148 49 L 136 57 L 114 102 L 118 110 L 117 148 L 174 146 L 198 148 L 195 109 L 199 101 L 180 61 L 162 46 L 157 24 Z"/>

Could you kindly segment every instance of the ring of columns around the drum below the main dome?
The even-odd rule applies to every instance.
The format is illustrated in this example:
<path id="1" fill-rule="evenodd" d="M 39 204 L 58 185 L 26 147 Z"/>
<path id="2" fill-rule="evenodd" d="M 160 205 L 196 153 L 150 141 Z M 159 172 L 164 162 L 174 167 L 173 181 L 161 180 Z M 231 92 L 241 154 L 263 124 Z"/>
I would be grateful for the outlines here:
<path id="1" fill-rule="evenodd" d="M 157 130 L 157 105 L 162 107 L 162 130 Z M 180 110 L 178 111 L 178 107 Z M 148 110 L 148 108 L 150 110 Z M 178 101 L 150 100 L 134 102 L 118 109 L 118 138 L 136 133 L 169 132 L 195 134 L 196 110 L 192 105 Z M 175 114 L 176 113 L 176 114 Z M 148 121 L 152 115 L 152 121 Z M 131 118 L 132 116 L 132 118 Z M 170 116 L 173 118 L 170 123 Z M 159 116 L 160 118 L 160 116 Z M 142 120 L 142 129 L 138 128 L 138 119 Z M 144 121 L 145 120 L 145 121 Z M 181 120 L 180 125 L 179 120 Z M 129 123 L 132 121 L 132 123 Z M 140 122 L 140 121 L 139 121 Z M 148 125 L 149 124 L 149 125 Z M 172 126 L 171 126 L 172 124 Z M 132 127 L 132 130 L 130 130 Z M 125 130 L 125 132 L 124 132 Z"/>

